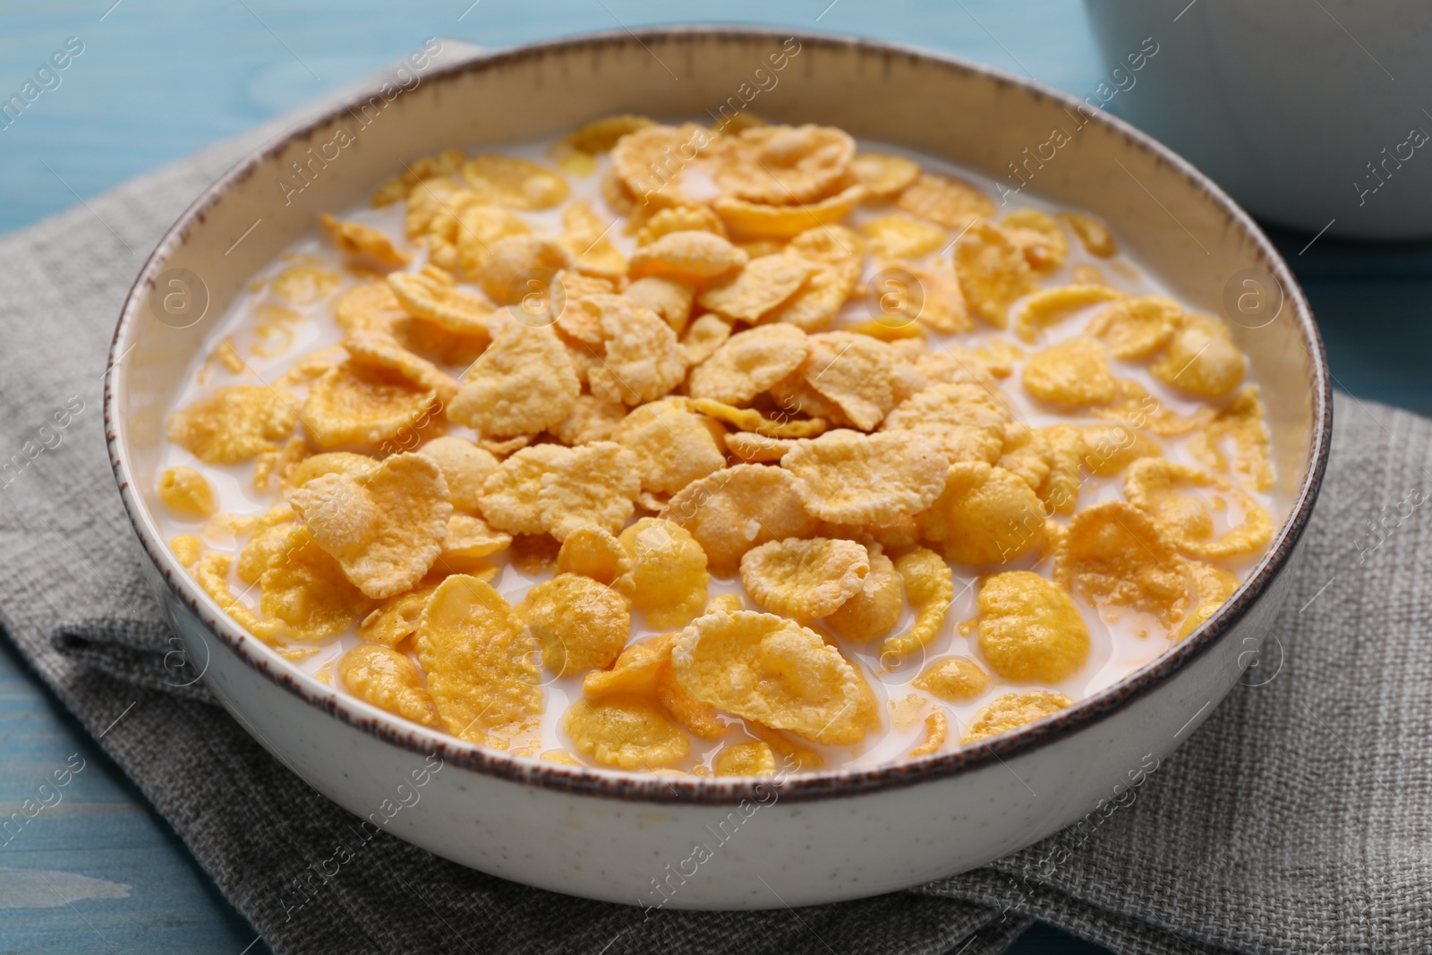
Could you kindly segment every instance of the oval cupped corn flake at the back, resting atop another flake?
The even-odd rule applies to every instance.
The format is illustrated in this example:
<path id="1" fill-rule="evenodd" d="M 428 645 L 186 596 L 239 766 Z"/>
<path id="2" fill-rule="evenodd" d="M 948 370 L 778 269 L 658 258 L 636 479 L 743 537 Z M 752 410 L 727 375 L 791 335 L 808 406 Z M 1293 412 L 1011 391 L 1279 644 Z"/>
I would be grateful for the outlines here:
<path id="1" fill-rule="evenodd" d="M 836 192 L 855 140 L 832 126 L 760 126 L 717 145 L 716 185 L 768 205 L 813 202 Z"/>

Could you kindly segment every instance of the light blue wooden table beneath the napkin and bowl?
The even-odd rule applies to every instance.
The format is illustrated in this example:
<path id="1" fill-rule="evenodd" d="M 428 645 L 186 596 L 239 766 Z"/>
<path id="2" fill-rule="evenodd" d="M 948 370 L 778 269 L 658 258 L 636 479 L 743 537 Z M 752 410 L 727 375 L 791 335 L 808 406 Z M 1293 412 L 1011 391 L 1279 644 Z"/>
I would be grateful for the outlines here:
<path id="1" fill-rule="evenodd" d="M 113 6 L 112 6 L 113 4 Z M 672 21 L 785 24 L 915 43 L 1034 76 L 1080 96 L 1103 76 L 1078 0 L 262 0 L 7 3 L 0 99 L 69 37 L 83 53 L 0 129 L 0 232 L 185 156 L 417 47 L 487 47 Z M 1323 324 L 1339 382 L 1432 411 L 1428 246 L 1366 248 L 1276 236 Z M 139 262 L 136 261 L 136 269 Z M 266 952 L 169 826 L 0 641 L 0 815 L 66 762 L 83 769 L 0 846 L 0 952 Z M 36 878 L 40 872 L 43 878 Z M 50 888 L 47 888 L 50 886 Z M 66 903 L 59 891 L 90 898 Z M 1098 952 L 1035 928 L 1017 952 Z"/>

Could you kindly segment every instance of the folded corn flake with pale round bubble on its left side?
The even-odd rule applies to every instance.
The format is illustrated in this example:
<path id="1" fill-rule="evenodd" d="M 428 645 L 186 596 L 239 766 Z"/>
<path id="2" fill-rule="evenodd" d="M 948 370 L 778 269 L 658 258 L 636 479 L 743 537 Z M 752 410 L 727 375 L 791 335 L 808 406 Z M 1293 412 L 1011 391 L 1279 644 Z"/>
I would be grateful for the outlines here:
<path id="1" fill-rule="evenodd" d="M 289 493 L 319 547 L 364 594 L 391 597 L 415 584 L 442 551 L 442 471 L 420 454 L 397 454 L 364 478 L 326 474 Z"/>

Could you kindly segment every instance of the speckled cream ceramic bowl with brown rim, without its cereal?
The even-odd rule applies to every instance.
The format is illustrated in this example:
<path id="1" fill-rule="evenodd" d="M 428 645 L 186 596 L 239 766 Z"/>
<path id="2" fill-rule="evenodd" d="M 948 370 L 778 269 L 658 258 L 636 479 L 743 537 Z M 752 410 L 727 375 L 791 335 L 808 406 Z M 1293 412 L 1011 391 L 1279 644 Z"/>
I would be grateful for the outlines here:
<path id="1" fill-rule="evenodd" d="M 1186 740 L 1237 682 L 1287 593 L 1327 458 L 1322 342 L 1286 265 L 1189 163 L 1053 90 L 914 49 L 746 29 L 653 29 L 504 50 L 367 97 L 248 156 L 175 223 L 125 302 L 106 379 L 109 451 L 135 533 L 190 660 L 263 746 L 337 803 L 401 839 L 493 875 L 613 902 L 775 908 L 888 892 L 1027 846 L 1090 812 L 1148 757 Z M 798 44 L 798 46 L 796 46 Z M 770 86 L 768 57 L 788 52 Z M 798 49 L 790 54 L 789 50 Z M 765 69 L 758 74 L 758 69 Z M 677 79 L 679 77 L 679 79 Z M 223 308 L 318 212 L 358 202 L 447 146 L 556 135 L 614 112 L 716 115 L 752 90 L 772 120 L 832 123 L 1001 178 L 1074 129 L 1030 189 L 1107 219 L 1179 295 L 1220 312 L 1244 269 L 1282 285 L 1267 324 L 1233 322 L 1273 430 L 1279 533 L 1239 593 L 1189 639 L 1118 684 L 988 743 L 881 769 L 779 780 L 657 779 L 480 750 L 337 693 L 223 616 L 175 561 L 153 518 L 162 415 L 206 322 L 149 311 L 156 276 L 183 268 Z M 295 193 L 291 163 L 331 156 Z M 308 152 L 314 150 L 314 152 Z M 235 245 L 255 220 L 248 241 Z M 703 849 L 697 849 L 702 846 Z"/>

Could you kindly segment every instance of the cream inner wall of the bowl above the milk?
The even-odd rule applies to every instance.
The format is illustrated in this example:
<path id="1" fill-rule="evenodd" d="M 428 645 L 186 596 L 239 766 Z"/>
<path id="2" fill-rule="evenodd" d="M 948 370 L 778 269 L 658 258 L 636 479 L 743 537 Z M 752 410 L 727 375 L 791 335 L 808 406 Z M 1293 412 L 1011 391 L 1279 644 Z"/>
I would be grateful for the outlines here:
<path id="1" fill-rule="evenodd" d="M 1244 590 L 1276 570 L 1289 534 L 1306 520 L 1330 415 L 1306 301 L 1247 216 L 1187 163 L 1117 120 L 1014 77 L 914 50 L 725 29 L 538 44 L 430 70 L 407 86 L 337 109 L 231 170 L 165 238 L 125 305 L 113 352 L 120 361 L 109 382 L 112 452 L 140 535 L 190 600 L 208 601 L 186 583 L 152 518 L 163 415 L 212 322 L 248 278 L 309 232 L 318 213 L 362 200 L 405 160 L 448 146 L 553 136 L 620 112 L 700 119 L 749 109 L 773 122 L 829 123 L 949 159 L 1011 189 L 1020 185 L 1017 168 L 1030 193 L 1106 219 L 1121 245 L 1194 308 L 1230 318 L 1226 292 L 1244 289 L 1239 282 L 1250 275 L 1264 294 L 1280 291 L 1276 316 L 1229 322 L 1262 385 L 1277 470 L 1280 533 Z M 1051 149 L 1057 132 L 1064 142 Z M 152 308 L 175 275 L 198 276 L 208 295 L 203 318 L 185 328 Z M 1217 630 L 1236 603 L 1206 631 Z M 1197 644 L 1196 636 L 1170 653 L 1194 653 Z M 331 693 L 266 656 L 296 683 L 312 683 L 315 694 Z"/>

